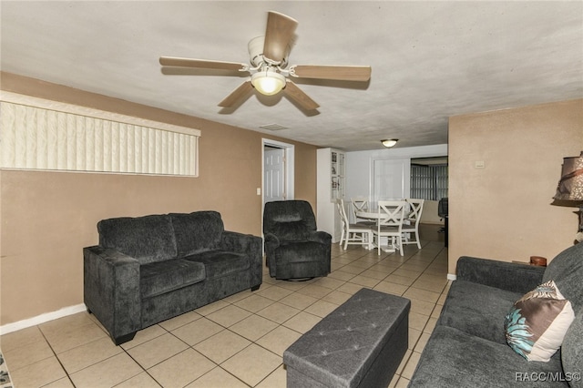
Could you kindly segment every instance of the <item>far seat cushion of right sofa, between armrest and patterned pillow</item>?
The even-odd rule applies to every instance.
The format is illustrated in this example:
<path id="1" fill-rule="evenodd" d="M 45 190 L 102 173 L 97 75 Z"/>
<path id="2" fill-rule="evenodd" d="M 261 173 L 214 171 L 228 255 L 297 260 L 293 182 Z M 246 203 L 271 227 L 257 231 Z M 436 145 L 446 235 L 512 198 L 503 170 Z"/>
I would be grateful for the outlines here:
<path id="1" fill-rule="evenodd" d="M 438 323 L 507 346 L 504 317 L 520 297 L 518 292 L 454 281 Z"/>

